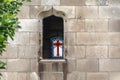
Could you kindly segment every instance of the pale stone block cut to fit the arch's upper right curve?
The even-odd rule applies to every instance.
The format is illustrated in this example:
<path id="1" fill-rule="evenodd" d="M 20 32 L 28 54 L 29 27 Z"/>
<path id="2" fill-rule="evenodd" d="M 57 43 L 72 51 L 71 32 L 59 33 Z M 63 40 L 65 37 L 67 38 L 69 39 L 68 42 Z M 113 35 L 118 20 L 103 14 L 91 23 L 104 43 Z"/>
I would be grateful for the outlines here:
<path id="1" fill-rule="evenodd" d="M 54 6 L 54 9 L 63 11 L 66 18 L 75 18 L 75 6 Z"/>

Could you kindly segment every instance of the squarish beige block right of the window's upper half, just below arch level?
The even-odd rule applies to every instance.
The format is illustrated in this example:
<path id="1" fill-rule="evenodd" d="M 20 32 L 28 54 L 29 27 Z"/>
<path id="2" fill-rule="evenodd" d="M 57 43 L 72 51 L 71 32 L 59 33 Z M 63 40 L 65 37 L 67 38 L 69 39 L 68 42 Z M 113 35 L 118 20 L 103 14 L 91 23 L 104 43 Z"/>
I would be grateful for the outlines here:
<path id="1" fill-rule="evenodd" d="M 67 20 L 68 31 L 84 31 L 84 21 L 79 19 L 69 19 Z"/>

